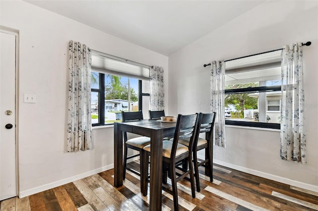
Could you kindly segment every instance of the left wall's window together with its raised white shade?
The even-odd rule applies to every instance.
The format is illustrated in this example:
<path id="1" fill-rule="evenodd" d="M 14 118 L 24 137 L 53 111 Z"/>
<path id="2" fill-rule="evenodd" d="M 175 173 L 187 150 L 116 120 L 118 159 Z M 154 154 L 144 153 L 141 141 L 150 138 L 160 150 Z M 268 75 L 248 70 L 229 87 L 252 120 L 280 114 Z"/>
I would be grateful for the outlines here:
<path id="1" fill-rule="evenodd" d="M 149 68 L 92 54 L 91 118 L 92 125 L 121 121 L 121 111 L 144 110 L 150 104 Z"/>

